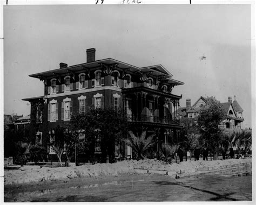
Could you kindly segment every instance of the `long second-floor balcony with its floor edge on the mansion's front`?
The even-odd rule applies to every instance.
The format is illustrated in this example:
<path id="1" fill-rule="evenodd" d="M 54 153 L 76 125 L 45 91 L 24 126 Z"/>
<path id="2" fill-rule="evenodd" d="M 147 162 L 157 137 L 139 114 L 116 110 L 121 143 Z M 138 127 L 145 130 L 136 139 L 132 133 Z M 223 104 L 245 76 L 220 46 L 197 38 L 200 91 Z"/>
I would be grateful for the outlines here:
<path id="1" fill-rule="evenodd" d="M 154 124 L 159 126 L 170 126 L 170 127 L 177 127 L 181 128 L 178 120 L 173 120 L 170 118 L 165 117 L 157 117 L 157 116 L 149 116 L 149 115 L 139 115 L 138 117 L 134 115 L 126 115 L 126 119 L 128 122 L 131 123 L 141 123 L 141 124 Z"/>

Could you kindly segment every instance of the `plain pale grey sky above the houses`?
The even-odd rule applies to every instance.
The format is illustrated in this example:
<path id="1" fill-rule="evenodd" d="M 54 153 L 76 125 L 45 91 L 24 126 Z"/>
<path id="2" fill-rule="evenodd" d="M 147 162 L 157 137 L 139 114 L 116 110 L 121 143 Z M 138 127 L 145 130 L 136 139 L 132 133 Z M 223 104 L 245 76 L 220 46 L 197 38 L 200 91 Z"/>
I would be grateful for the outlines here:
<path id="1" fill-rule="evenodd" d="M 173 93 L 191 104 L 234 95 L 251 127 L 251 5 L 26 5 L 4 7 L 4 114 L 30 114 L 22 98 L 44 95 L 29 74 L 59 62 L 113 58 L 163 65 L 184 82 Z M 202 57 L 205 58 L 202 59 Z"/>

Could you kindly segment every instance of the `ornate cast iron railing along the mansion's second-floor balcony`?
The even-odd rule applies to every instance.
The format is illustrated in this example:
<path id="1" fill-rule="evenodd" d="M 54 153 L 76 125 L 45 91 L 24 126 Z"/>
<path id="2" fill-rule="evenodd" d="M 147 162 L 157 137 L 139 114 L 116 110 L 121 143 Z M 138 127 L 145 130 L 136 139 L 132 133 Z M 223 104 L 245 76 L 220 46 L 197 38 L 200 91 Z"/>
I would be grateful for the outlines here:
<path id="1" fill-rule="evenodd" d="M 178 120 L 173 120 L 166 117 L 157 117 L 150 115 L 138 115 L 138 117 L 134 115 L 126 115 L 126 119 L 128 122 L 152 122 L 152 123 L 162 123 L 162 124 L 179 124 Z"/>

